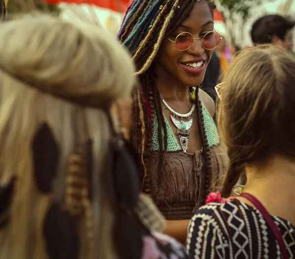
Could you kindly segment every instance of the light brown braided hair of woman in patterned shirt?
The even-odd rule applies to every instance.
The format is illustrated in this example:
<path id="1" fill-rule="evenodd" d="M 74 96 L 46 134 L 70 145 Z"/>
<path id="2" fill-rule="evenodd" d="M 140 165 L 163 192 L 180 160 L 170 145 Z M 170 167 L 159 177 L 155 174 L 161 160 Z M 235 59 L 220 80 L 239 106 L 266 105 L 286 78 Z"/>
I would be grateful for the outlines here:
<path id="1" fill-rule="evenodd" d="M 295 59 L 274 46 L 239 53 L 224 78 L 218 126 L 228 148 L 228 196 L 246 164 L 295 159 Z"/>

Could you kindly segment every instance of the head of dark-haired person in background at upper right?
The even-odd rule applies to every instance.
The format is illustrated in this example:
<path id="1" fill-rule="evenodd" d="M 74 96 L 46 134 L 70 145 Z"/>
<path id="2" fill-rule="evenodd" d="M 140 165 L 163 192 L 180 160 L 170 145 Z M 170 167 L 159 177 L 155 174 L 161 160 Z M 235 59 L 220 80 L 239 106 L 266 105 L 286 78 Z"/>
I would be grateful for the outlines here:
<path id="1" fill-rule="evenodd" d="M 280 15 L 263 16 L 252 26 L 252 41 L 255 45 L 266 43 L 279 45 L 292 52 L 294 26 L 295 21 Z"/>

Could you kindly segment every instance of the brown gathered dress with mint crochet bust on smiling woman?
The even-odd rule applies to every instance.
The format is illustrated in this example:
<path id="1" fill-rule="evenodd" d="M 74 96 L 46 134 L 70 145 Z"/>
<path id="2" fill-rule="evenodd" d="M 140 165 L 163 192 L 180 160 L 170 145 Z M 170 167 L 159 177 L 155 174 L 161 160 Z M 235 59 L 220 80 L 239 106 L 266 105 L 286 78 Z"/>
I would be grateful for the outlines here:
<path id="1" fill-rule="evenodd" d="M 228 170 L 228 157 L 219 144 L 219 137 L 216 137 L 218 134 L 213 119 L 204 107 L 203 113 L 206 118 L 206 133 L 211 148 L 213 174 L 211 189 L 215 191 L 221 185 L 222 175 Z M 176 145 L 175 141 L 177 140 L 174 135 L 171 135 L 173 131 L 168 121 L 166 125 L 168 140 L 170 139 L 170 142 L 174 142 L 171 146 Z M 156 126 L 154 131 L 157 131 Z M 155 138 L 156 135 L 154 134 Z M 156 143 L 155 138 L 154 141 Z M 156 148 L 157 145 L 153 147 L 155 151 L 151 154 L 149 174 L 144 181 L 145 190 L 150 190 L 151 197 L 167 220 L 189 220 L 194 212 L 204 205 L 200 204 L 200 201 L 204 200 L 205 191 L 203 152 L 196 151 L 194 154 L 189 154 L 184 153 L 180 148 L 178 151 L 169 151 L 168 149 L 163 158 L 164 175 L 161 180 L 158 173 L 159 151 L 156 151 Z"/>

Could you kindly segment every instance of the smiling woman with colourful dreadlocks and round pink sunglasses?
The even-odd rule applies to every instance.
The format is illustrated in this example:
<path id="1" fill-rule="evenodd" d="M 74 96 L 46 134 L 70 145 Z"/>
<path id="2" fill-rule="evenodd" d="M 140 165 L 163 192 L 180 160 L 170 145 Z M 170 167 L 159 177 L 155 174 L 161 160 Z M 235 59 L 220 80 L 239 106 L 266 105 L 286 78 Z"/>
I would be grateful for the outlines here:
<path id="1" fill-rule="evenodd" d="M 184 241 L 188 220 L 227 171 L 212 120 L 213 100 L 199 89 L 214 49 L 213 0 L 133 0 L 118 38 L 133 56 L 133 143 L 144 191 Z M 161 130 L 159 130 L 161 129 Z"/>

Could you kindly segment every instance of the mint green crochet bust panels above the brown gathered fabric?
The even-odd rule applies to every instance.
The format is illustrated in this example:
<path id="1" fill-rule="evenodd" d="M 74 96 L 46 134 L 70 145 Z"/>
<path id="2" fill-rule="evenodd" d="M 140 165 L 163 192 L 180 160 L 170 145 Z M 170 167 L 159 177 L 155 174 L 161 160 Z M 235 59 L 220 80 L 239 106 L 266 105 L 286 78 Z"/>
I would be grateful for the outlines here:
<path id="1" fill-rule="evenodd" d="M 207 109 L 205 106 L 202 104 L 202 110 L 204 114 L 204 122 L 205 122 L 205 129 L 206 129 L 206 135 L 208 139 L 208 144 L 210 147 L 214 145 L 218 145 L 219 142 L 219 136 L 217 132 L 216 125 L 211 117 L 211 115 L 208 113 Z M 179 151 L 182 150 L 181 147 L 179 146 L 177 142 L 177 138 L 173 133 L 172 128 L 169 125 L 168 120 L 164 116 L 166 127 L 167 127 L 167 138 L 168 138 L 168 147 L 167 151 Z M 158 129 L 159 129 L 159 124 L 157 121 L 157 117 L 155 115 L 155 120 L 154 120 L 154 130 L 153 130 L 153 136 L 152 136 L 152 151 L 158 151 L 160 150 L 160 145 L 159 145 L 159 137 L 158 137 Z M 162 135 L 164 135 L 164 128 L 162 128 Z M 163 140 L 163 148 L 164 148 L 164 140 Z"/>

